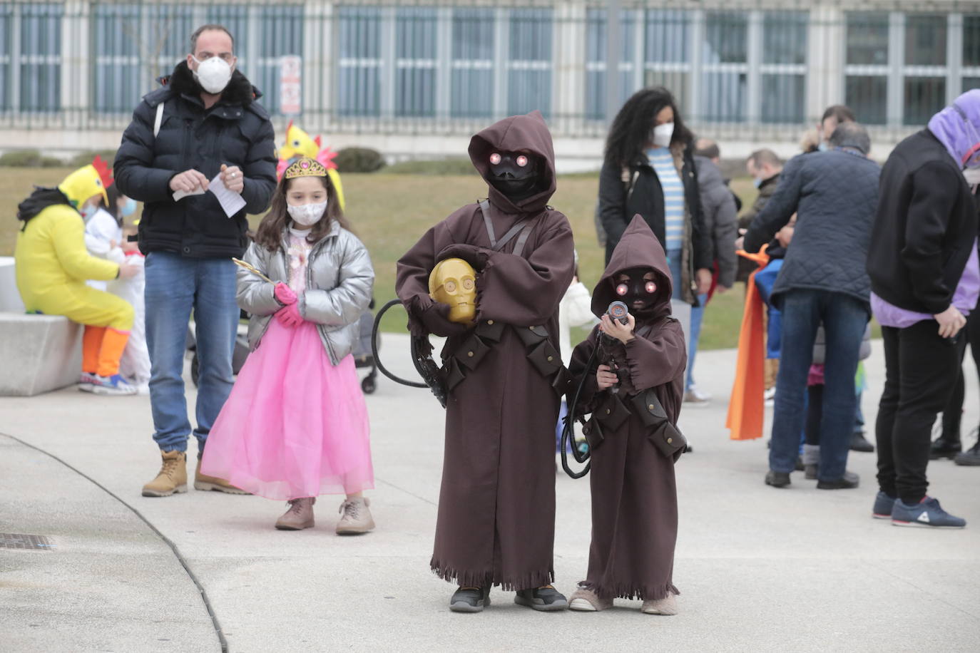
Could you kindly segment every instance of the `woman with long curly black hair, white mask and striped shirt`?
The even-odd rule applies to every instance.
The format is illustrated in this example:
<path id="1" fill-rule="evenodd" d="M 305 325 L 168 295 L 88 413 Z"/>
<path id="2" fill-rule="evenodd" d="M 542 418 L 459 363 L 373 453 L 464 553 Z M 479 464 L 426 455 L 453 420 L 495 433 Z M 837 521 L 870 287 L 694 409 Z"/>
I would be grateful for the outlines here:
<path id="1" fill-rule="evenodd" d="M 633 94 L 610 129 L 599 176 L 607 263 L 637 213 L 666 251 L 674 299 L 697 305 L 697 296 L 711 288 L 711 233 L 701 211 L 693 138 L 663 87 Z"/>

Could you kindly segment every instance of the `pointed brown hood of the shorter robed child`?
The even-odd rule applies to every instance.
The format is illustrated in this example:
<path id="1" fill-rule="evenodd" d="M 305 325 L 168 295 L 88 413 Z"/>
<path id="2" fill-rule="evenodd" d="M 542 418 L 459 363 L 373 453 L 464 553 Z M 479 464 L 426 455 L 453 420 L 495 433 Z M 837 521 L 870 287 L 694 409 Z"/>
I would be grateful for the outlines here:
<path id="1" fill-rule="evenodd" d="M 615 294 L 616 276 L 625 270 L 637 267 L 653 268 L 658 276 L 656 299 L 653 305 L 645 309 L 643 314 L 637 315 L 637 318 L 654 320 L 670 314 L 673 282 L 670 278 L 667 257 L 657 236 L 650 230 L 643 216 L 637 213 L 623 232 L 618 245 L 615 246 L 613 257 L 610 258 L 609 265 L 603 272 L 603 278 L 596 284 L 592 293 L 592 312 L 596 316 L 602 316 L 610 304 L 619 299 Z M 633 312 L 632 308 L 630 312 Z"/>

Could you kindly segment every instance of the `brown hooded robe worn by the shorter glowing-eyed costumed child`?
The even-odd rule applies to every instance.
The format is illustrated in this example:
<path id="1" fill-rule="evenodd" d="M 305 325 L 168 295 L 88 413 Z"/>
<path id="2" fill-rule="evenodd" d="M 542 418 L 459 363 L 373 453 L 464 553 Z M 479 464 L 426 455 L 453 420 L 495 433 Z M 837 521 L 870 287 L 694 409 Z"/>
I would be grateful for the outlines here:
<path id="1" fill-rule="evenodd" d="M 631 411 L 617 429 L 604 429 L 605 440 L 592 452 L 592 545 L 586 583 L 603 598 L 658 600 L 679 593 L 672 581 L 677 540 L 677 487 L 674 460 L 650 442 L 628 397 L 653 388 L 671 423 L 677 423 L 684 394 L 687 347 L 680 323 L 670 317 L 670 270 L 657 237 L 639 215 L 633 218 L 615 247 L 603 278 L 592 295 L 592 312 L 602 316 L 615 295 L 616 276 L 629 268 L 653 268 L 658 294 L 653 304 L 636 314 L 635 337 L 604 346 L 605 360 L 586 364 L 596 349 L 600 331 L 572 352 L 569 371 L 577 388 L 586 377 L 575 412 L 596 410 L 609 391 L 598 392 L 596 367 L 610 356 L 628 370 L 620 376 L 618 396 Z M 602 355 L 602 352 L 600 352 Z M 569 399 L 570 401 L 570 399 Z"/>

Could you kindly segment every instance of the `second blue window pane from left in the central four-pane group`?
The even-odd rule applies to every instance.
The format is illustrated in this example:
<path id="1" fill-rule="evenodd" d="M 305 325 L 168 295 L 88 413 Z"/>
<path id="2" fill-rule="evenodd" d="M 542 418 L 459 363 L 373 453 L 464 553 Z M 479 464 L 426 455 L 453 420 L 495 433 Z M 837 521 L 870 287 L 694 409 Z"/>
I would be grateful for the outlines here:
<path id="1" fill-rule="evenodd" d="M 395 114 L 435 116 L 436 10 L 399 8 L 396 19 Z"/>

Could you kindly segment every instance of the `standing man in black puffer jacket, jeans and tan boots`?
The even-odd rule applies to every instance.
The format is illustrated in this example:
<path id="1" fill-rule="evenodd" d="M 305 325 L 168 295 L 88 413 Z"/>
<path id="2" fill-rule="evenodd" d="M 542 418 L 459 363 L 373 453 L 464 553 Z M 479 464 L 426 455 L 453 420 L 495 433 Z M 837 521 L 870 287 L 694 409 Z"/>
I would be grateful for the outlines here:
<path id="1" fill-rule="evenodd" d="M 235 264 L 246 246 L 247 213 L 269 207 L 275 189 L 274 135 L 261 93 L 233 70 L 234 39 L 221 25 L 191 36 L 191 53 L 163 88 L 133 113 L 116 156 L 120 190 L 144 203 L 139 249 L 146 255 L 146 336 L 152 362 L 150 404 L 163 467 L 144 496 L 187 490 L 191 433 L 183 387 L 183 354 L 191 310 L 197 325 L 200 386 L 198 458 L 231 390 L 231 352 L 238 327 Z M 206 192 L 221 177 L 245 207 L 225 214 Z M 188 194 L 187 197 L 174 193 Z M 197 490 L 242 493 L 198 472 Z"/>

